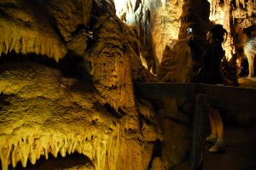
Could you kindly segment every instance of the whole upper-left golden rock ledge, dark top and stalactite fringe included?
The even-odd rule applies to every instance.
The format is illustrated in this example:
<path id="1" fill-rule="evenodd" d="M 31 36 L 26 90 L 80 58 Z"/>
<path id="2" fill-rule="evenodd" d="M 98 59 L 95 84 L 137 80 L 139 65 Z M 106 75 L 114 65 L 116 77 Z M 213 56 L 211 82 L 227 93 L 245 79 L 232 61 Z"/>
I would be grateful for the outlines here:
<path id="1" fill-rule="evenodd" d="M 3 11 L 0 16 L 0 55 L 13 50 L 20 54 L 45 54 L 58 61 L 67 54 L 67 48 L 48 20 L 38 20 L 36 11 L 29 10 L 26 3 L 11 1 L 13 6 L 5 6 L 8 2 L 0 3 Z"/>

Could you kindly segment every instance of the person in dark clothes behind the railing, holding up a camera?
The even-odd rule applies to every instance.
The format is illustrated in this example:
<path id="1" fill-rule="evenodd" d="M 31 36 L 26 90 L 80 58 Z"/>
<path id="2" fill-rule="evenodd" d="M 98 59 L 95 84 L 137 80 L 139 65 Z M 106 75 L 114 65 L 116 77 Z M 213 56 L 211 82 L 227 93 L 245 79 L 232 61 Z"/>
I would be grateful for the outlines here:
<path id="1" fill-rule="evenodd" d="M 225 77 L 223 75 L 222 60 L 225 60 L 222 43 L 224 36 L 227 37 L 227 31 L 222 25 L 213 25 L 207 31 L 207 41 L 209 42 L 206 50 L 201 55 L 201 69 L 199 71 L 200 82 L 206 84 L 223 84 Z M 189 43 L 191 43 L 189 36 Z M 226 39 L 226 38 L 225 38 Z M 195 44 L 194 44 L 195 46 Z M 210 107 L 209 122 L 211 125 L 211 135 L 207 137 L 207 142 L 212 143 L 208 150 L 211 153 L 217 153 L 224 150 L 224 125 L 218 108 Z"/>

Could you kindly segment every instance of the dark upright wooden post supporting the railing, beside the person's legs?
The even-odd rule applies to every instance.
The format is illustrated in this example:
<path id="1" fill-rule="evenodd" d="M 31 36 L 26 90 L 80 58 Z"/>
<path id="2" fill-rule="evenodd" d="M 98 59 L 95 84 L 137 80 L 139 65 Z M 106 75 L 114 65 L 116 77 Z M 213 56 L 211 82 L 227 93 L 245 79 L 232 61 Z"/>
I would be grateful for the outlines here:
<path id="1" fill-rule="evenodd" d="M 195 95 L 193 134 L 190 155 L 190 170 L 201 170 L 205 150 L 206 127 L 208 120 L 207 95 Z"/>

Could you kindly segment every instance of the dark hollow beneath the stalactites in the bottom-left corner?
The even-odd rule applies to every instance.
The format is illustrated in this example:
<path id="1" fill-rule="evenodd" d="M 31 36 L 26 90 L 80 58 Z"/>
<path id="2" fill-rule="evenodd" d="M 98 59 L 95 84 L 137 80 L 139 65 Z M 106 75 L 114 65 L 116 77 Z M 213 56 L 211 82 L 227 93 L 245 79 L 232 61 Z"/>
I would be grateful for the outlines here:
<path id="1" fill-rule="evenodd" d="M 0 161 L 1 164 L 1 161 Z M 2 165 L 0 167 L 2 169 Z M 45 159 L 44 156 L 36 162 L 35 165 L 32 165 L 30 161 L 27 162 L 26 168 L 21 166 L 19 162 L 17 166 L 14 168 L 9 165 L 9 170 L 46 170 L 46 169 L 85 169 L 85 170 L 93 170 L 95 169 L 92 161 L 87 156 L 79 155 L 79 153 L 74 153 L 72 155 L 67 155 L 66 157 L 62 157 L 58 154 L 58 157 L 54 157 L 49 155 L 48 160 Z"/>

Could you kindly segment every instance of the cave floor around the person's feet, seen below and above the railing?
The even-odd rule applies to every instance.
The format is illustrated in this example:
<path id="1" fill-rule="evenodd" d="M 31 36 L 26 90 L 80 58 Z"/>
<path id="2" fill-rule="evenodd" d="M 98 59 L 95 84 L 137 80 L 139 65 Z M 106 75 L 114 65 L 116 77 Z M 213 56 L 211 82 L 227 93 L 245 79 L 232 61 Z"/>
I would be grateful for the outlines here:
<path id="1" fill-rule="evenodd" d="M 256 77 L 239 79 L 241 87 L 256 88 Z M 255 170 L 256 169 L 256 125 L 250 127 L 224 127 L 226 150 L 210 154 L 206 144 L 203 170 Z"/>

